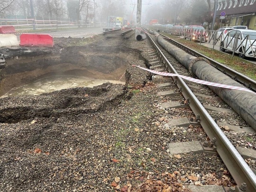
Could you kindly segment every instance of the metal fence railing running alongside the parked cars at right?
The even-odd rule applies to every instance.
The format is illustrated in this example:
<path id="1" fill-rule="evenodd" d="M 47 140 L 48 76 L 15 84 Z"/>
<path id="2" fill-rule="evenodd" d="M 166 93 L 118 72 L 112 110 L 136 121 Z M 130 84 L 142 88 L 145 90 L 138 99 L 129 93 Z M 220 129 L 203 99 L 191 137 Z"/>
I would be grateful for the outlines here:
<path id="1" fill-rule="evenodd" d="M 237 53 L 239 57 L 256 57 L 256 31 L 255 32 L 243 32 L 243 34 L 237 30 L 218 32 L 215 30 L 200 30 L 200 29 L 188 29 L 183 26 L 174 27 L 162 27 L 162 26 L 150 26 L 150 28 L 156 31 L 164 31 L 172 35 L 183 37 L 184 39 L 198 40 L 200 42 L 219 46 L 220 51 L 232 51 L 232 56 Z M 231 32 L 231 33 L 230 33 Z"/>

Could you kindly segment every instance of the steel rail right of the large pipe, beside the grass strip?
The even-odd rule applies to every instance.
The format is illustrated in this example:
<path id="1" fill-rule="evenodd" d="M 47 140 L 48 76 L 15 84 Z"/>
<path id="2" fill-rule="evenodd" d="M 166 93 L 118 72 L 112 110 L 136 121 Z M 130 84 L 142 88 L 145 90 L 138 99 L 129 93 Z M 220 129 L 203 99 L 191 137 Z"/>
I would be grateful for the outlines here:
<path id="1" fill-rule="evenodd" d="M 245 76 L 242 73 L 238 73 L 237 71 L 225 66 L 224 64 L 221 64 L 217 61 L 214 61 L 213 59 L 211 59 L 210 57 L 203 55 L 187 46 L 182 45 L 181 43 L 159 33 L 161 36 L 165 37 L 168 39 L 168 41 L 170 41 L 172 44 L 174 44 L 177 47 L 182 48 L 183 50 L 187 51 L 188 53 L 195 55 L 196 57 L 204 57 L 207 60 L 210 61 L 210 64 L 212 66 L 214 66 L 215 68 L 217 68 L 219 71 L 229 75 L 230 77 L 232 77 L 232 79 L 235 79 L 236 81 L 242 83 L 243 85 L 246 85 L 247 88 L 252 89 L 253 91 L 256 91 L 256 81 L 254 81 L 253 79 L 250 79 L 249 77 Z"/>

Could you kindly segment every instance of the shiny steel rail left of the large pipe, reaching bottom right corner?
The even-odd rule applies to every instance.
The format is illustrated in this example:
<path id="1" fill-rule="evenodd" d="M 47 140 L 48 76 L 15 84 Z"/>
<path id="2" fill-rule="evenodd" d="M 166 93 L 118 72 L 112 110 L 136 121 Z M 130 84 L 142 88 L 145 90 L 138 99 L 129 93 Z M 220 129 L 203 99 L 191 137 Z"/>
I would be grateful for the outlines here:
<path id="1" fill-rule="evenodd" d="M 155 50 L 158 52 L 159 56 L 163 59 L 164 64 L 168 67 L 168 71 L 171 73 L 176 73 L 176 70 L 170 64 L 168 59 L 155 44 L 153 39 L 148 35 L 147 38 L 150 40 Z M 207 136 L 212 140 L 214 137 L 217 138 L 216 147 L 217 152 L 232 175 L 233 179 L 237 185 L 242 183 L 247 184 L 248 192 L 256 192 L 256 175 L 247 165 L 243 157 L 239 154 L 237 149 L 231 144 L 229 139 L 225 136 L 222 130 L 219 128 L 217 123 L 210 117 L 210 114 L 202 106 L 201 102 L 196 98 L 187 84 L 180 77 L 173 77 L 177 81 L 177 86 L 182 88 L 182 94 L 184 98 L 189 98 L 189 106 L 193 113 L 200 114 L 200 123 L 202 128 L 205 130 Z"/>

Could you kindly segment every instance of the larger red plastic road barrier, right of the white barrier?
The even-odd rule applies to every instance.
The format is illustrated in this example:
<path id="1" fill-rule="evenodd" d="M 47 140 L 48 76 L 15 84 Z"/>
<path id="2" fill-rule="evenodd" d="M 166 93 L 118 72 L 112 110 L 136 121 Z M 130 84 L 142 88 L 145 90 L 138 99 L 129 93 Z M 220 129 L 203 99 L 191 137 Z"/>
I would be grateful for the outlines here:
<path id="1" fill-rule="evenodd" d="M 46 34 L 22 34 L 20 35 L 20 46 L 53 47 L 53 37 Z"/>

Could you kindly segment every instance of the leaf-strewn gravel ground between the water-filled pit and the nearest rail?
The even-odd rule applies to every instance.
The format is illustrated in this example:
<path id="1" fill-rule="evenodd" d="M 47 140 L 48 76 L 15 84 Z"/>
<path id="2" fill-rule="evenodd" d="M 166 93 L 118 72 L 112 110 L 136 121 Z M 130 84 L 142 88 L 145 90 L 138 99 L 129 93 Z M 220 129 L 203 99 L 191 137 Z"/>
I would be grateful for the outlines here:
<path id="1" fill-rule="evenodd" d="M 134 42 L 138 50 L 145 45 Z M 143 60 L 131 64 L 145 67 Z M 185 185 L 232 185 L 218 155 L 168 153 L 169 142 L 207 136 L 199 127 L 166 126 L 192 111 L 159 107 L 183 99 L 160 97 L 149 79 L 130 65 L 126 85 L 0 99 L 0 191 L 188 192 Z"/>

